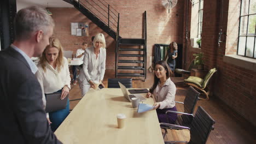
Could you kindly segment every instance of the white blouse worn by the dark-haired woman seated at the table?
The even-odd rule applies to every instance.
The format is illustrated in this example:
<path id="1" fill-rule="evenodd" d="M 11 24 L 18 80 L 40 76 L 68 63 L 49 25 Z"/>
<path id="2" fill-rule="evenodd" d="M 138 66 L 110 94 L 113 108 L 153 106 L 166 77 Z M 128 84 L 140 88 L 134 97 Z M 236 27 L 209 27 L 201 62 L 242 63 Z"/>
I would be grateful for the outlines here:
<path id="1" fill-rule="evenodd" d="M 175 106 L 175 93 L 176 86 L 171 81 L 170 77 L 166 80 L 165 84 L 160 87 L 160 82 L 156 86 L 153 94 L 156 102 L 160 103 L 159 109 L 167 109 Z"/>

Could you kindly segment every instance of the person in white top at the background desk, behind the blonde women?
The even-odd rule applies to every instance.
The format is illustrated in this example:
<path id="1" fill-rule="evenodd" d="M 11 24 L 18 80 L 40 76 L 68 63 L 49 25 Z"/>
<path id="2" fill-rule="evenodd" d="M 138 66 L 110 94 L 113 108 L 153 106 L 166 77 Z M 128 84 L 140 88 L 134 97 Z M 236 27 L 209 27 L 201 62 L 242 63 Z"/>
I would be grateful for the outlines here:
<path id="1" fill-rule="evenodd" d="M 77 53 L 75 53 L 75 57 L 76 58 L 80 58 L 81 61 L 83 61 L 84 59 L 84 51 L 85 49 L 88 47 L 88 44 L 87 43 L 83 43 L 82 44 L 82 49 L 78 49 L 77 50 Z M 72 67 L 72 71 L 73 71 L 73 85 L 77 85 L 77 65 L 73 65 Z"/>

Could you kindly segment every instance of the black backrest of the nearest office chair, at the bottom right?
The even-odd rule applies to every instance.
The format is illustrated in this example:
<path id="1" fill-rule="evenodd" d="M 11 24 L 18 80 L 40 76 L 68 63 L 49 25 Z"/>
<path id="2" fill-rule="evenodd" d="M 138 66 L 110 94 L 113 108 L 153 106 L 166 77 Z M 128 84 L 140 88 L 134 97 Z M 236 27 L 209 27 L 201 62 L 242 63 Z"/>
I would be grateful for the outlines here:
<path id="1" fill-rule="evenodd" d="M 206 143 L 211 130 L 214 129 L 213 124 L 215 121 L 203 110 L 201 106 L 197 108 L 195 117 L 190 124 L 190 144 L 203 144 Z"/>

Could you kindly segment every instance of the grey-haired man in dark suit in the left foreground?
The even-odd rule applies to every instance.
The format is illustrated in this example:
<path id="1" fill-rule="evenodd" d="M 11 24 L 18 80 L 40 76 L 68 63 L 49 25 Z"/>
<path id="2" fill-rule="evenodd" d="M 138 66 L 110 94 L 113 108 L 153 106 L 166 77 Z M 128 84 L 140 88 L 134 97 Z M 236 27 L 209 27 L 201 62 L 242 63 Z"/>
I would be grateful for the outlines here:
<path id="1" fill-rule="evenodd" d="M 0 52 L 1 143 L 61 143 L 46 120 L 42 91 L 31 57 L 42 55 L 54 21 L 39 7 L 21 9 L 14 20 L 15 41 Z"/>

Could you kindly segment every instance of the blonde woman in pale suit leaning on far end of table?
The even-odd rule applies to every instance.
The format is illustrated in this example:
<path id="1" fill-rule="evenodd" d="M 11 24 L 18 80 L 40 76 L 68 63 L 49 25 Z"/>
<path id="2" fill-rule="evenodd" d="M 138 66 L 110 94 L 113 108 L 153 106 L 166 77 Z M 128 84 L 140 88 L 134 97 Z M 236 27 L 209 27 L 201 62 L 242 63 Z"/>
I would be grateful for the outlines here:
<path id="1" fill-rule="evenodd" d="M 83 70 L 79 74 L 79 85 L 82 89 L 82 97 L 89 91 L 90 87 L 95 88 L 97 84 L 103 87 L 103 77 L 106 66 L 106 41 L 102 33 L 94 38 L 94 45 L 88 47 L 84 53 Z"/>

